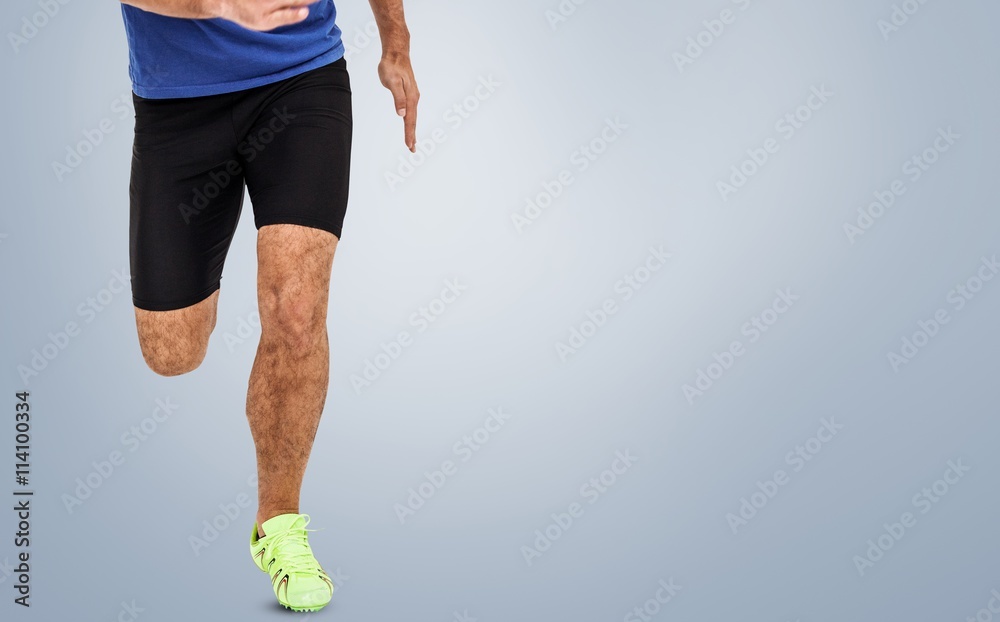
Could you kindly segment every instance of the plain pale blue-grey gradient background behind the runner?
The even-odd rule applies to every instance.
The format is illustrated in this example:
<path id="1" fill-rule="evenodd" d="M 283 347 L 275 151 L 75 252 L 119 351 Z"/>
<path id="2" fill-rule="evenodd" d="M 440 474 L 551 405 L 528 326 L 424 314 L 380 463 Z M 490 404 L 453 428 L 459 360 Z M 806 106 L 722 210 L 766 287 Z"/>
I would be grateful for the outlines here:
<path id="1" fill-rule="evenodd" d="M 557 4 L 408 3 L 419 135 L 441 127 L 448 140 L 394 191 L 383 176 L 406 151 L 377 42 L 350 57 L 351 205 L 303 496 L 323 529 L 319 559 L 349 579 L 309 617 L 622 620 L 670 578 L 682 589 L 654 619 L 975 616 L 1000 588 L 1000 282 L 898 372 L 887 353 L 1000 253 L 1000 8 L 930 1 L 886 41 L 889 0 L 745 11 L 589 0 L 553 30 Z M 338 6 L 351 41 L 371 11 Z M 674 52 L 726 7 L 736 22 L 678 71 Z M 5 41 L 36 10 L 5 2 Z M 17 365 L 128 265 L 132 120 L 111 112 L 129 92 L 118 3 L 70 2 L 19 53 L 0 49 L 0 66 L 0 403 L 12 413 Z M 445 112 L 488 76 L 501 86 L 452 129 Z M 820 84 L 830 101 L 723 202 L 716 181 Z M 519 234 L 511 214 L 616 116 L 621 138 Z M 105 117 L 116 131 L 57 181 L 52 161 Z M 851 244 L 843 224 L 948 126 L 956 145 Z M 555 343 L 620 300 L 616 281 L 660 244 L 667 266 L 561 361 Z M 0 571 L 4 619 L 112 620 L 123 601 L 150 622 L 292 615 L 249 558 L 252 507 L 199 555 L 188 540 L 254 493 L 243 408 L 257 334 L 226 343 L 255 311 L 254 275 L 245 211 L 198 371 L 167 379 L 143 365 L 122 293 L 31 379 L 33 607 L 12 604 Z M 467 291 L 417 335 L 410 314 L 449 278 Z M 682 386 L 749 341 L 740 327 L 779 288 L 799 301 L 690 405 Z M 414 344 L 358 394 L 351 374 L 402 330 Z M 128 452 L 121 435 L 167 398 L 178 410 Z M 394 504 L 497 407 L 511 413 L 502 430 L 401 525 Z M 843 430 L 734 535 L 726 514 L 758 480 L 791 472 L 786 453 L 823 417 Z M 13 424 L 0 425 L 5 496 Z M 68 513 L 61 496 L 116 449 L 125 463 Z M 521 546 L 626 449 L 634 466 L 526 564 Z M 971 470 L 860 575 L 867 540 L 957 459 Z M 13 561 L 13 532 L 13 512 L 0 513 L 0 561 Z"/>

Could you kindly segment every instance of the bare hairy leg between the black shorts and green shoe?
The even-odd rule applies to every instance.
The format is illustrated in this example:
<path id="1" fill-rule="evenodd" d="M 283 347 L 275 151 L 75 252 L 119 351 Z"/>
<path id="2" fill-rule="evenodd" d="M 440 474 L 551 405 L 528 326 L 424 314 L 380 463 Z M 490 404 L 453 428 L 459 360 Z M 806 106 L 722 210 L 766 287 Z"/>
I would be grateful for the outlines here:
<path id="1" fill-rule="evenodd" d="M 257 451 L 258 525 L 299 512 L 330 377 L 326 312 L 337 242 L 327 231 L 288 224 L 261 227 L 257 236 L 261 336 L 247 419 Z"/>

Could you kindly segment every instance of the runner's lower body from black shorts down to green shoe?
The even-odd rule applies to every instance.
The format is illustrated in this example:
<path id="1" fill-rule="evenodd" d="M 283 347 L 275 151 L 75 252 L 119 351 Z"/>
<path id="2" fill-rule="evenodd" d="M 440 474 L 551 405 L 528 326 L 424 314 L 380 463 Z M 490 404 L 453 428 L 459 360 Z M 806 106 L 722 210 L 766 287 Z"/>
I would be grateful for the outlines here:
<path id="1" fill-rule="evenodd" d="M 251 553 L 279 602 L 315 610 L 333 585 L 309 551 L 299 492 L 329 384 L 327 303 L 352 137 L 346 61 L 235 93 L 134 103 L 132 295 L 143 358 L 161 375 L 205 357 L 249 189 L 261 319 L 247 391 L 259 501 Z"/>

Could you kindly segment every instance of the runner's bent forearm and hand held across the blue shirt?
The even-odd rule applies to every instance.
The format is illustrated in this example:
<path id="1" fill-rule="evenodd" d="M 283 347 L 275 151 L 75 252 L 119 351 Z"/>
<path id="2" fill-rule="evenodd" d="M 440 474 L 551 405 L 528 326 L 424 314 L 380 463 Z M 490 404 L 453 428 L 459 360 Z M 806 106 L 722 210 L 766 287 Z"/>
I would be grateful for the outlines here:
<path id="1" fill-rule="evenodd" d="M 221 17 L 251 30 L 274 30 L 309 17 L 316 0 L 121 0 L 144 11 L 188 19 Z"/>

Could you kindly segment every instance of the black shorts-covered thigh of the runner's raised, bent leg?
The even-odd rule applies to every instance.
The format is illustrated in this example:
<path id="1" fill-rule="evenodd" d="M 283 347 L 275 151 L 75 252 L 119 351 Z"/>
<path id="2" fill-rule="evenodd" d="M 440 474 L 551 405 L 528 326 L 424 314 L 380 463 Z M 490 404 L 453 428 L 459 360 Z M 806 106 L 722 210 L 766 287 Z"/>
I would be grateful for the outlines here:
<path id="1" fill-rule="evenodd" d="M 223 96 L 135 98 L 129 185 L 134 305 L 171 311 L 219 289 L 244 178 Z"/>

